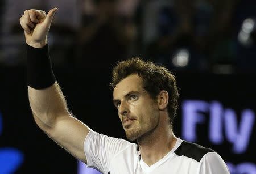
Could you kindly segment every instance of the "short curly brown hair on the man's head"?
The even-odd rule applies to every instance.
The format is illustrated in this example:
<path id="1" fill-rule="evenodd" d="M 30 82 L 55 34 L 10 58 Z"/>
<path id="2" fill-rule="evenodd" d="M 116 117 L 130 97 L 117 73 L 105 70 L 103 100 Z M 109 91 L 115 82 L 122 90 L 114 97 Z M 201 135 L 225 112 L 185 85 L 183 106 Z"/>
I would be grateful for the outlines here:
<path id="1" fill-rule="evenodd" d="M 141 58 L 131 58 L 130 60 L 118 62 L 112 73 L 110 87 L 114 90 L 115 86 L 124 78 L 131 74 L 138 74 L 142 79 L 143 88 L 148 92 L 153 100 L 156 100 L 159 92 L 168 92 L 168 113 L 170 124 L 176 116 L 179 91 L 176 86 L 175 76 L 168 69 L 155 65 L 150 61 L 143 61 Z"/>

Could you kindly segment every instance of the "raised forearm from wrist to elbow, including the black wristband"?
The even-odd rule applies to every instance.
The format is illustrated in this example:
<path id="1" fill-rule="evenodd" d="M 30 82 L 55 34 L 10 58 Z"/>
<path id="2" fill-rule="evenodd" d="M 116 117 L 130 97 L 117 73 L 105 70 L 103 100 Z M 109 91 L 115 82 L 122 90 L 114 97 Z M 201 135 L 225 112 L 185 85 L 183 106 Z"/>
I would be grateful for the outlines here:
<path id="1" fill-rule="evenodd" d="M 27 45 L 27 82 L 30 107 L 40 128 L 52 128 L 57 118 L 69 116 L 52 71 L 48 45 L 39 49 Z"/>

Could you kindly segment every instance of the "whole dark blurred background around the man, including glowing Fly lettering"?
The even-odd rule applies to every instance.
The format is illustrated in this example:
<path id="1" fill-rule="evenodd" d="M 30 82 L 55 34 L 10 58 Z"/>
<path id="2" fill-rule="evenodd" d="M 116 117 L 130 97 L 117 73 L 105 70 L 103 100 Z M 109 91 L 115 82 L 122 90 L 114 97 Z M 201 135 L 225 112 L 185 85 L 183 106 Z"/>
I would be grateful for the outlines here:
<path id="1" fill-rule="evenodd" d="M 52 142 L 27 99 L 26 9 L 59 10 L 48 35 L 72 113 L 125 138 L 109 90 L 115 62 L 141 57 L 170 69 L 180 88 L 177 137 L 213 148 L 232 174 L 256 173 L 256 1 L 2 0 L 0 173 L 98 173 Z"/>

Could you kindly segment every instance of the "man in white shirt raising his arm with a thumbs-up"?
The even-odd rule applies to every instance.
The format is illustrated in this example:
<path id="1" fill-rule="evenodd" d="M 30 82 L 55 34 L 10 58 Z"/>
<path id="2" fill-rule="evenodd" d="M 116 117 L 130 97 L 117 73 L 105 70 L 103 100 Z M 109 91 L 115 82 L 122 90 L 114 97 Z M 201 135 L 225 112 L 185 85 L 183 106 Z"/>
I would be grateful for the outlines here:
<path id="1" fill-rule="evenodd" d="M 98 134 L 68 112 L 52 73 L 47 33 L 53 15 L 26 10 L 20 18 L 27 43 L 28 97 L 36 124 L 77 159 L 102 173 L 229 173 L 220 155 L 176 138 L 172 120 L 179 96 L 167 69 L 138 58 L 113 71 L 113 101 L 130 140 Z"/>

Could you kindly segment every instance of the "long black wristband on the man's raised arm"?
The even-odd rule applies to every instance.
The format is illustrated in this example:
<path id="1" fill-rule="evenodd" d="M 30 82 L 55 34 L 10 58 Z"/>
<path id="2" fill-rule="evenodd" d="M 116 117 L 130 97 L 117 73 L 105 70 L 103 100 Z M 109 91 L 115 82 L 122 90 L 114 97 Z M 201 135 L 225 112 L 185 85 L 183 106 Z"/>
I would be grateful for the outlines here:
<path id="1" fill-rule="evenodd" d="M 26 50 L 28 86 L 38 90 L 52 86 L 56 79 L 52 71 L 48 44 L 43 48 L 34 48 L 26 44 Z"/>

